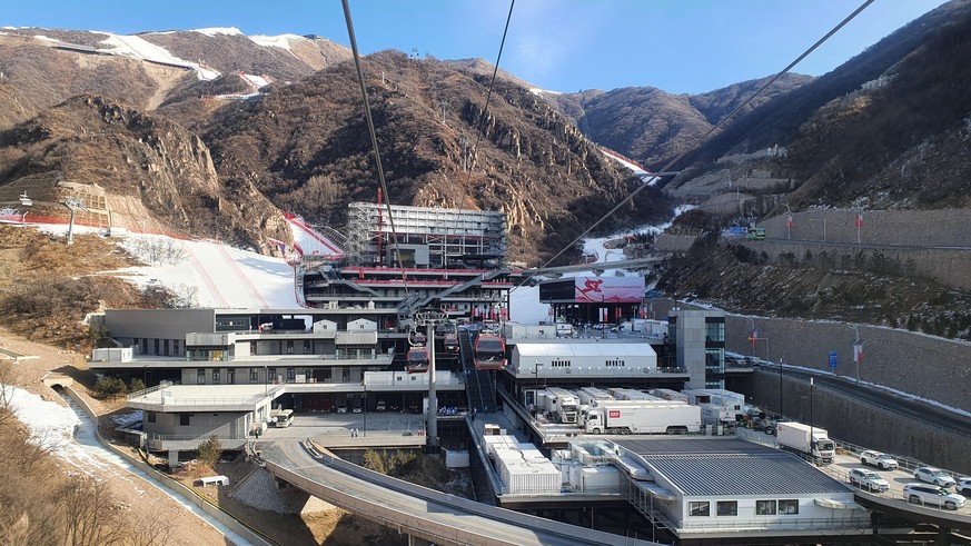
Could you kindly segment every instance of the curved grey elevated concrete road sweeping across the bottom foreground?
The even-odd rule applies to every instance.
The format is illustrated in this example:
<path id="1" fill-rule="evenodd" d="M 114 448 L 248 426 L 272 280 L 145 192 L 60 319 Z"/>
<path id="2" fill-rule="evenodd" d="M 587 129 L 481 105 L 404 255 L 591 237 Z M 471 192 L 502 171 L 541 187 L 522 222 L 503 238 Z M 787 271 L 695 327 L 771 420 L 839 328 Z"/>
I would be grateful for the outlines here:
<path id="1" fill-rule="evenodd" d="M 267 470 L 358 515 L 437 544 L 651 545 L 484 505 L 389 478 L 324 455 L 297 441 L 260 444 Z"/>

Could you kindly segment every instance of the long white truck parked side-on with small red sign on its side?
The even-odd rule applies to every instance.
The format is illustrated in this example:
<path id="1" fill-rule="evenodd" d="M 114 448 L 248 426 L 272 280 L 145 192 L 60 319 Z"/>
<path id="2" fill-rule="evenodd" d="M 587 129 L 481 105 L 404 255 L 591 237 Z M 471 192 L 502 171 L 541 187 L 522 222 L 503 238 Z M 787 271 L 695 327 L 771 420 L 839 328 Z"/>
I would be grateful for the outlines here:
<path id="1" fill-rule="evenodd" d="M 674 434 L 697 433 L 701 408 L 683 403 L 598 400 L 581 416 L 583 429 L 591 434 Z"/>

